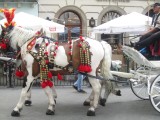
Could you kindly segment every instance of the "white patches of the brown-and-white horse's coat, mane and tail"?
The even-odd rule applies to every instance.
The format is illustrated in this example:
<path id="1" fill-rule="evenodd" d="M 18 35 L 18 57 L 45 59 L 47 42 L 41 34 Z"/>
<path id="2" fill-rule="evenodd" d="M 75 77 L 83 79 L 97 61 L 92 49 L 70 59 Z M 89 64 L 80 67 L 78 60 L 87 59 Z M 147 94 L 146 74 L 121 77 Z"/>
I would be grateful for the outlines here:
<path id="1" fill-rule="evenodd" d="M 25 97 L 26 97 L 27 90 L 30 86 L 30 83 L 34 79 L 34 77 L 32 76 L 32 63 L 33 63 L 34 59 L 27 52 L 28 40 L 34 34 L 35 34 L 34 32 L 24 30 L 22 28 L 17 28 L 17 27 L 15 27 L 9 34 L 9 37 L 11 38 L 12 47 L 14 49 L 16 49 L 16 45 L 21 47 L 22 59 L 26 61 L 27 70 L 28 70 L 27 86 L 22 89 L 20 100 L 14 109 L 14 111 L 18 111 L 18 112 L 22 108 L 22 105 L 23 105 Z M 106 42 L 100 43 L 97 40 L 93 40 L 90 38 L 83 38 L 83 39 L 85 39 L 88 42 L 88 44 L 90 46 L 90 52 L 92 53 L 92 55 L 91 55 L 92 71 L 89 74 L 96 76 L 97 67 L 100 65 L 100 62 L 103 60 L 102 75 L 105 78 L 109 78 L 111 76 L 111 74 L 110 74 L 110 66 L 111 66 L 111 48 L 110 48 L 110 46 Z M 42 41 L 42 38 L 38 38 L 37 42 L 39 42 L 39 41 Z M 47 47 L 48 53 L 50 52 L 49 46 Z M 34 48 L 32 50 L 35 51 Z M 62 46 L 58 47 L 57 55 L 55 57 L 55 63 L 56 63 L 56 65 L 60 65 L 60 66 L 66 66 L 68 64 L 67 56 L 66 56 L 65 50 Z M 95 109 L 97 108 L 97 105 L 98 105 L 101 84 L 98 79 L 91 78 L 91 77 L 89 77 L 89 82 L 92 85 L 92 93 L 90 95 L 90 99 L 92 99 L 92 104 L 88 110 L 95 112 Z M 55 103 L 53 100 L 52 92 L 48 89 L 51 89 L 51 88 L 44 89 L 45 93 L 47 94 L 47 96 L 49 98 L 48 109 L 54 110 L 54 108 L 52 106 L 54 106 Z M 91 98 L 91 96 L 93 96 L 93 97 Z"/>

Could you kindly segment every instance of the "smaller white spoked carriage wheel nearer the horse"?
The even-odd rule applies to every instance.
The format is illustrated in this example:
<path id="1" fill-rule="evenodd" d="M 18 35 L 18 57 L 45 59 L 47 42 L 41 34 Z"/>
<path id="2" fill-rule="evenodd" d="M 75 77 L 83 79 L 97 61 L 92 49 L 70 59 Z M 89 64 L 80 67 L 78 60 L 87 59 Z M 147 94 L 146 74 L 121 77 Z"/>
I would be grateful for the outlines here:
<path id="1" fill-rule="evenodd" d="M 139 67 L 136 72 L 140 72 L 141 74 L 147 74 L 147 68 L 145 67 Z M 140 99 L 142 100 L 148 100 L 149 95 L 148 95 L 148 84 L 147 84 L 147 79 L 138 79 L 135 80 L 135 82 L 130 81 L 130 86 L 132 92 Z"/>

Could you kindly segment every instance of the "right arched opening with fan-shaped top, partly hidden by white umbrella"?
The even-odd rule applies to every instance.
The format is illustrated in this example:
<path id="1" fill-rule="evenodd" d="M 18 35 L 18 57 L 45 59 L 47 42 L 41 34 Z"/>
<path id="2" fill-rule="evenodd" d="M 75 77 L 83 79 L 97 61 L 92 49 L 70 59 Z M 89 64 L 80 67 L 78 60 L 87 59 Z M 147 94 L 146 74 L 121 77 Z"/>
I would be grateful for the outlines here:
<path id="1" fill-rule="evenodd" d="M 101 19 L 101 24 L 106 23 L 110 20 L 120 17 L 121 14 L 117 11 L 106 12 Z M 101 40 L 107 41 L 112 49 L 117 49 L 117 45 L 121 45 L 123 42 L 123 34 L 101 34 Z"/>

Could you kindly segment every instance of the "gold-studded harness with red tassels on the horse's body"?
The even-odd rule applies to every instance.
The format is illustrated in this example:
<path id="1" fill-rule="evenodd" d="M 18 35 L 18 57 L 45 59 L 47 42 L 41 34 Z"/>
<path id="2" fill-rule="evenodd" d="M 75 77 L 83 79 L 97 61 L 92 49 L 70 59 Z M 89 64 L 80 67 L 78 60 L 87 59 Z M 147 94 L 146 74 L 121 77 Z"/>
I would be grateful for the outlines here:
<path id="1" fill-rule="evenodd" d="M 72 40 L 68 42 L 69 49 L 70 49 L 68 55 L 70 56 L 71 60 L 69 61 L 69 64 L 67 66 L 62 67 L 62 66 L 56 65 L 54 62 L 55 57 L 57 55 L 57 50 L 59 47 L 58 42 L 54 41 L 53 43 L 50 43 L 50 40 L 48 40 L 47 37 L 45 36 L 41 36 L 41 37 L 43 38 L 43 41 L 40 45 L 36 45 L 37 37 L 33 38 L 27 45 L 28 52 L 33 56 L 33 58 L 38 62 L 40 66 L 41 82 L 46 80 L 51 80 L 52 73 L 50 72 L 50 69 L 53 69 L 54 67 L 60 68 L 61 70 L 68 71 L 69 73 L 73 73 L 75 70 L 72 64 Z M 47 42 L 45 41 L 46 39 L 48 40 Z M 48 55 L 48 52 L 47 52 L 47 46 L 49 44 L 51 44 L 49 48 L 50 55 Z M 38 48 L 36 48 L 37 52 L 31 51 L 33 46 L 38 46 Z M 90 51 L 89 51 L 89 44 L 86 41 L 84 41 L 82 37 L 80 37 L 79 47 L 80 47 L 79 71 L 90 72 L 91 57 L 90 57 Z"/>

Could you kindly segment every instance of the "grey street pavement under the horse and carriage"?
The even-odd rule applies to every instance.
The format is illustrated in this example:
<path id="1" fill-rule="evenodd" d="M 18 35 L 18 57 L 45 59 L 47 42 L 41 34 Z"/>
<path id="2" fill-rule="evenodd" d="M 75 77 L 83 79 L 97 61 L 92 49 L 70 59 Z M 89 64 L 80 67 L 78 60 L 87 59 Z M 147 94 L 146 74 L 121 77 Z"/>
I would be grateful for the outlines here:
<path id="1" fill-rule="evenodd" d="M 0 87 L 0 120 L 159 120 L 160 113 L 154 110 L 149 100 L 138 99 L 129 87 L 120 88 L 122 96 L 110 95 L 105 107 L 99 106 L 95 117 L 86 116 L 88 107 L 84 100 L 91 92 L 77 93 L 72 87 L 56 87 L 58 93 L 56 112 L 47 116 L 48 99 L 40 88 L 33 87 L 32 106 L 23 107 L 20 117 L 11 117 L 18 102 L 20 88 Z"/>

